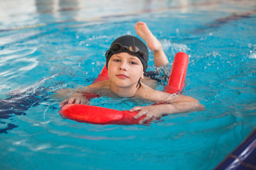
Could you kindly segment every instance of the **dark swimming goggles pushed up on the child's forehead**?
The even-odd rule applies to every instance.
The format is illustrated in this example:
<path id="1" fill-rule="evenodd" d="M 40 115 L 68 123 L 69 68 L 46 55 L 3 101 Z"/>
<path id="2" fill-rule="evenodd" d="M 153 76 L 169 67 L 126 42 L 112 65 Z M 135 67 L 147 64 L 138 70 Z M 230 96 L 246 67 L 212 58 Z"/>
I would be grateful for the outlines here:
<path id="1" fill-rule="evenodd" d="M 128 47 L 128 46 L 124 46 L 124 45 L 121 45 L 119 43 L 116 43 L 116 44 L 112 45 L 109 50 L 107 50 L 106 57 L 108 55 L 110 55 L 111 52 L 113 54 L 116 54 L 116 53 L 119 53 L 119 52 L 129 52 L 132 55 L 138 55 L 139 54 L 142 57 L 144 57 L 144 54 L 141 52 L 139 47 L 137 47 L 136 45 L 130 45 Z"/>

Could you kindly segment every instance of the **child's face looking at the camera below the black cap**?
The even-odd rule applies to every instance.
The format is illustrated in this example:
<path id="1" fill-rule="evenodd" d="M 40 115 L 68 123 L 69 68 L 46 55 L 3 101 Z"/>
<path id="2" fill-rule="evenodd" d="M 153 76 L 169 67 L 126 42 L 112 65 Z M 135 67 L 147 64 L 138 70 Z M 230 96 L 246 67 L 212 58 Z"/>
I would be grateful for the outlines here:
<path id="1" fill-rule="evenodd" d="M 137 86 L 143 79 L 143 65 L 138 57 L 127 52 L 112 55 L 108 63 L 108 76 L 119 87 Z"/>

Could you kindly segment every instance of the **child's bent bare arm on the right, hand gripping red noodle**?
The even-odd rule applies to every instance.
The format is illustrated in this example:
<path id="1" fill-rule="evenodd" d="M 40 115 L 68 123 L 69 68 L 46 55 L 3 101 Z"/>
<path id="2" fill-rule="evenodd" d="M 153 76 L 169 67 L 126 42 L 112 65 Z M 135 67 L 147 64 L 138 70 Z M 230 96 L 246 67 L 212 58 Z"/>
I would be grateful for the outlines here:
<path id="1" fill-rule="evenodd" d="M 149 101 L 154 101 L 154 106 L 134 107 L 129 111 L 139 111 L 134 118 L 140 118 L 142 115 L 146 115 L 140 123 L 146 122 L 146 120 L 156 120 L 162 115 L 186 113 L 189 111 L 202 111 L 205 107 L 199 103 L 196 98 L 190 96 L 183 96 L 179 94 L 169 94 L 163 91 L 157 91 L 143 86 L 139 96 Z"/>

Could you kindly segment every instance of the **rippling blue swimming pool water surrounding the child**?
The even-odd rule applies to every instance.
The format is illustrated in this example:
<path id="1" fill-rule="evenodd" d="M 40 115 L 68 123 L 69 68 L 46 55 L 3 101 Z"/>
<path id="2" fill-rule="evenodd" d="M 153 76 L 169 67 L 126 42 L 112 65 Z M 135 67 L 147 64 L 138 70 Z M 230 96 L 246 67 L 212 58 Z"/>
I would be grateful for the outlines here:
<path id="1" fill-rule="evenodd" d="M 0 6 L 0 98 L 13 96 L 18 105 L 35 97 L 0 119 L 0 169 L 213 169 L 255 128 L 255 1 L 14 0 Z M 189 55 L 183 94 L 206 111 L 151 125 L 61 118 L 54 91 L 91 84 L 112 40 L 136 35 L 137 21 L 146 22 L 170 62 L 176 52 Z M 152 52 L 149 65 L 154 70 Z M 135 105 L 125 98 L 92 103 Z"/>

